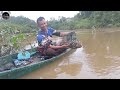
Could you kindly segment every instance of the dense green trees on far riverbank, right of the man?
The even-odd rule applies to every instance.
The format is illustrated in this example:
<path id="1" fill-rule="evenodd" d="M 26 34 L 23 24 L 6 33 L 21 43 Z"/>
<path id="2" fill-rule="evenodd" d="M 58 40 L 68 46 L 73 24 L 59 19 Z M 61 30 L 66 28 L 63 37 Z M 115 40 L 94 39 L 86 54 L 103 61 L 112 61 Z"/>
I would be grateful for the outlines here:
<path id="1" fill-rule="evenodd" d="M 73 18 L 51 19 L 48 24 L 59 30 L 120 27 L 120 11 L 81 11 Z"/>

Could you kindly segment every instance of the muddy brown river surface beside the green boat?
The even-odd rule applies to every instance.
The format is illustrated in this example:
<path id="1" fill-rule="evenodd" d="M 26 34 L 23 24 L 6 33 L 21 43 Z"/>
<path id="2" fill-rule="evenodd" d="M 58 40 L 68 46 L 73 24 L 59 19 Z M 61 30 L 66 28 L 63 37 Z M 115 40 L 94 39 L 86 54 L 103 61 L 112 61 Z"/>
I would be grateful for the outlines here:
<path id="1" fill-rule="evenodd" d="M 120 79 L 120 31 L 77 32 L 83 47 L 21 79 Z"/>

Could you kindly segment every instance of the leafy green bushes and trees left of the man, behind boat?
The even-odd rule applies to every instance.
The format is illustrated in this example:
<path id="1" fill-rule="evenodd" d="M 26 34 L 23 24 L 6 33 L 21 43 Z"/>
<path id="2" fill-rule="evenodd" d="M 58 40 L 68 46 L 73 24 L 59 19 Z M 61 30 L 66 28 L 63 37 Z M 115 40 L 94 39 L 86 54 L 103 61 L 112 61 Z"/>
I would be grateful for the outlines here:
<path id="1" fill-rule="evenodd" d="M 23 49 L 22 42 L 36 35 L 35 21 L 23 16 L 0 20 L 0 56 Z M 27 40 L 28 41 L 28 40 Z M 30 44 L 30 42 L 28 42 Z"/>

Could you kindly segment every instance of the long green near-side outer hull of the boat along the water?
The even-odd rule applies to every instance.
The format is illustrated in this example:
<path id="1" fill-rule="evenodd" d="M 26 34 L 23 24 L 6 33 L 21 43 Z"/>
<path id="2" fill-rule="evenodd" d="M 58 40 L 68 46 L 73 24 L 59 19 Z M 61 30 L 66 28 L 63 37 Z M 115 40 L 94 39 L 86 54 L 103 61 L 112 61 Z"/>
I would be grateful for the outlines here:
<path id="1" fill-rule="evenodd" d="M 25 74 L 28 74 L 36 69 L 39 69 L 55 60 L 58 60 L 58 58 L 60 58 L 61 56 L 65 55 L 66 53 L 68 53 L 71 49 L 67 49 L 65 52 L 63 52 L 62 54 L 55 56 L 53 58 L 47 59 L 47 60 L 43 60 L 43 61 L 39 61 L 37 63 L 33 63 L 33 64 L 28 64 L 26 66 L 22 66 L 19 68 L 14 68 L 12 70 L 6 70 L 3 72 L 0 72 L 0 79 L 16 79 L 19 78 Z M 14 57 L 15 55 L 13 55 Z M 9 57 L 8 57 L 9 58 Z M 3 58 L 4 59 L 4 58 Z M 11 59 L 9 59 L 11 60 Z M 11 60 L 13 61 L 13 60 Z"/>

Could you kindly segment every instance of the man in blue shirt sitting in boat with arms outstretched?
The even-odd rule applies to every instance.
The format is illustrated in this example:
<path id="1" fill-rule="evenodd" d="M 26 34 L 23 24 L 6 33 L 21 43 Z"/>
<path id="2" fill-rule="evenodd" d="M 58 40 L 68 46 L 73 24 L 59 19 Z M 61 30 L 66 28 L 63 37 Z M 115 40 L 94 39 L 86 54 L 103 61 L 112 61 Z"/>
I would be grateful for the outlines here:
<path id="1" fill-rule="evenodd" d="M 63 37 L 69 33 L 56 32 L 55 29 L 47 27 L 47 22 L 44 17 L 39 17 L 37 19 L 37 25 L 40 28 L 37 35 L 38 40 L 38 50 L 42 55 L 46 56 L 57 56 L 62 51 L 66 50 L 69 45 L 51 45 L 52 35 Z"/>

